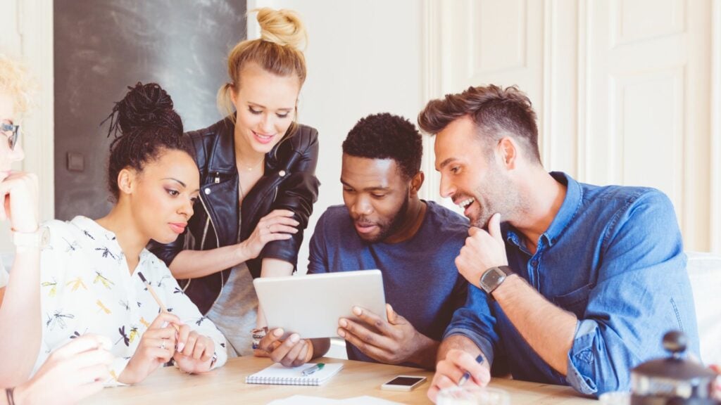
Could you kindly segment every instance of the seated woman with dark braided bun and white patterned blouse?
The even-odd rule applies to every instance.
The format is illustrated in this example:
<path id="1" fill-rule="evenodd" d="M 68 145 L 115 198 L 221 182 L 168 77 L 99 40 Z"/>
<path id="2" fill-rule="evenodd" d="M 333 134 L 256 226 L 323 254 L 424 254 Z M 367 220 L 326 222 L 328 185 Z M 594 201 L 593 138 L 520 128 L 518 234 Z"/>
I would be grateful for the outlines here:
<path id="1" fill-rule="evenodd" d="M 145 248 L 151 239 L 169 243 L 185 231 L 198 198 L 198 166 L 182 120 L 158 84 L 128 89 L 108 117 L 115 138 L 107 184 L 115 205 L 97 220 L 47 223 L 50 243 L 40 262 L 38 364 L 76 337 L 104 335 L 115 356 L 110 384 L 138 383 L 170 360 L 187 373 L 226 360 L 221 332 Z"/>

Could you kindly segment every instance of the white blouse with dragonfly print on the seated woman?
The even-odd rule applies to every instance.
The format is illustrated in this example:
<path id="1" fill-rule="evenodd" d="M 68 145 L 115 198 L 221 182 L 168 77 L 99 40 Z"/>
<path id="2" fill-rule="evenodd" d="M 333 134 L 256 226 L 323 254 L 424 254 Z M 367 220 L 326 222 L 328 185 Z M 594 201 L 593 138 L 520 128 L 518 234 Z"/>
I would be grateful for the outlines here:
<path id="1" fill-rule="evenodd" d="M 43 343 L 35 371 L 53 350 L 86 333 L 112 341 L 110 374 L 118 376 L 135 353 L 143 332 L 160 308 L 138 277 L 142 272 L 167 310 L 199 334 L 213 339 L 217 360 L 227 359 L 226 339 L 182 292 L 168 267 L 147 249 L 131 275 L 115 233 L 77 216 L 70 222 L 49 221 L 50 244 L 40 261 Z M 35 373 L 35 372 L 33 372 Z M 112 385 L 112 381 L 109 382 Z"/>

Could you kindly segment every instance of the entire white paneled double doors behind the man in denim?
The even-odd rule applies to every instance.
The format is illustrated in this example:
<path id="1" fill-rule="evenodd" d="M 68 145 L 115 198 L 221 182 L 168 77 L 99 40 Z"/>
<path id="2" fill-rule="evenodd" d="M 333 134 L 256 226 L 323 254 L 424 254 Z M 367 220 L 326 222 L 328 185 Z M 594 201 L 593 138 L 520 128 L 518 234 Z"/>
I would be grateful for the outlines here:
<path id="1" fill-rule="evenodd" d="M 517 84 L 539 115 L 547 169 L 656 187 L 686 249 L 709 250 L 721 114 L 711 109 L 712 1 L 439 1 L 429 24 L 441 40 L 429 46 L 442 79 L 428 94 Z"/>

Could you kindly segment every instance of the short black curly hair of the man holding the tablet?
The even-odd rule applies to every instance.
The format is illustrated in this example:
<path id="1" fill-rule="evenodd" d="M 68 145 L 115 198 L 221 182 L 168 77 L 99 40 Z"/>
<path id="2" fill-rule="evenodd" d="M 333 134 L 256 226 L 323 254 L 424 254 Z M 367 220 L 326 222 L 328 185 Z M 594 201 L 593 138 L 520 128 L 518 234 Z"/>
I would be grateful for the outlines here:
<path id="1" fill-rule="evenodd" d="M 343 141 L 343 153 L 369 159 L 393 159 L 407 179 L 420 172 L 423 137 L 404 117 L 388 112 L 368 115 Z"/>

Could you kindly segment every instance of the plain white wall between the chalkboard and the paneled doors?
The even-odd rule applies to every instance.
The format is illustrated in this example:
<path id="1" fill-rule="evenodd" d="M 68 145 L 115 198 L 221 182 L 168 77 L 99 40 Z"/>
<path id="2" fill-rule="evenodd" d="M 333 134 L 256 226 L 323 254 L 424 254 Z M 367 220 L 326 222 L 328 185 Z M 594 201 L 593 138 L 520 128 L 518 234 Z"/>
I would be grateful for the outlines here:
<path id="1" fill-rule="evenodd" d="M 341 144 L 350 128 L 375 112 L 392 112 L 415 123 L 423 107 L 423 2 L 416 0 L 257 0 L 248 9 L 296 10 L 309 35 L 308 79 L 301 91 L 299 121 L 318 129 L 321 181 L 309 230 L 298 258 L 308 264 L 315 223 L 329 205 L 342 204 Z M 258 37 L 255 17 L 248 37 Z M 426 153 L 432 151 L 426 151 Z"/>

